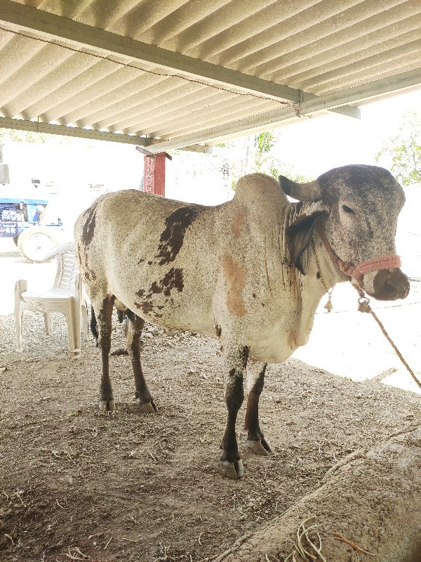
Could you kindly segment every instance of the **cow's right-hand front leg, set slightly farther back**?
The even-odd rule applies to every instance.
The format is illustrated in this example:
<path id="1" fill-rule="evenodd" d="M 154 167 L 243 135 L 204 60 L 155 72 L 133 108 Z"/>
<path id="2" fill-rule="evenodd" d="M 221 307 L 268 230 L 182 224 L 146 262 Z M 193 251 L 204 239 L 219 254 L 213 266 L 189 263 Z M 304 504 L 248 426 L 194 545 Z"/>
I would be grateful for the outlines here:
<path id="1" fill-rule="evenodd" d="M 244 429 L 248 430 L 247 446 L 258 455 L 269 455 L 269 452 L 272 452 L 259 424 L 259 398 L 263 390 L 266 367 L 267 363 L 250 361 L 247 367 L 248 400 Z"/>

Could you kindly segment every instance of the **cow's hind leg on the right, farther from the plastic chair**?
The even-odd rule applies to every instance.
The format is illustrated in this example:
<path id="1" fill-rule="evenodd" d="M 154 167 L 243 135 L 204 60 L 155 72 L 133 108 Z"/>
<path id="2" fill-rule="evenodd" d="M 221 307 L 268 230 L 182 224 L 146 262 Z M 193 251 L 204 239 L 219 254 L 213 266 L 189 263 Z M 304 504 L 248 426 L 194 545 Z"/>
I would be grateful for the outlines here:
<path id="1" fill-rule="evenodd" d="M 140 407 L 144 412 L 157 412 L 154 397 L 149 392 L 145 377 L 143 376 L 142 363 L 140 362 L 140 336 L 145 325 L 145 320 L 136 316 L 131 311 L 126 311 L 130 320 L 127 332 L 127 351 L 131 358 L 133 374 L 135 375 L 136 398 L 139 398 Z"/>

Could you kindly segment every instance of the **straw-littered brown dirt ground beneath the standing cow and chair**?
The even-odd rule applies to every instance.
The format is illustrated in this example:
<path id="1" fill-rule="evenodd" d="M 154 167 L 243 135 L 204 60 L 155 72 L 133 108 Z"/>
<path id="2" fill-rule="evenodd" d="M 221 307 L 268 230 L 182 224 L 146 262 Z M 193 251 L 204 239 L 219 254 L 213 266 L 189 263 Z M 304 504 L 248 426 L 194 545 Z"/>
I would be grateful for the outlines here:
<path id="1" fill-rule="evenodd" d="M 5 267 L 20 260 L 4 257 Z M 48 337 L 41 315 L 25 314 L 23 354 L 13 351 L 11 314 L 0 316 L 0 330 L 1 562 L 209 561 L 323 490 L 326 473 L 349 455 L 420 427 L 419 395 L 290 359 L 269 366 L 262 394 L 262 430 L 274 453 L 248 451 L 242 408 L 245 476 L 230 481 L 218 464 L 225 404 L 217 341 L 149 326 L 145 376 L 159 412 L 140 411 L 128 357 L 115 355 L 117 410 L 108 415 L 98 410 L 100 352 L 92 337 L 81 359 L 69 360 L 60 315 Z M 113 348 L 123 346 L 114 318 Z M 378 514 L 387 517 L 380 491 Z M 373 547 L 373 534 L 356 528 L 352 499 L 339 501 L 338 532 Z M 283 561 L 294 540 L 267 561 Z M 353 552 L 348 545 L 341 562 L 372 559 Z M 235 551 L 231 559 L 243 560 Z"/>

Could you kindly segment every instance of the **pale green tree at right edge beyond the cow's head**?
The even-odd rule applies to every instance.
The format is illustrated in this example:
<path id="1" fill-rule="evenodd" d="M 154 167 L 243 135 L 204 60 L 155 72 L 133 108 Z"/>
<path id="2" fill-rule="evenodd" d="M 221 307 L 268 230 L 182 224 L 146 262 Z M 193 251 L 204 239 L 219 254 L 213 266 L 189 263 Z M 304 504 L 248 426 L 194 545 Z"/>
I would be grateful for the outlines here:
<path id="1" fill-rule="evenodd" d="M 375 155 L 376 162 L 388 159 L 390 171 L 402 185 L 421 183 L 421 116 L 406 112 L 399 134 L 389 138 Z"/>

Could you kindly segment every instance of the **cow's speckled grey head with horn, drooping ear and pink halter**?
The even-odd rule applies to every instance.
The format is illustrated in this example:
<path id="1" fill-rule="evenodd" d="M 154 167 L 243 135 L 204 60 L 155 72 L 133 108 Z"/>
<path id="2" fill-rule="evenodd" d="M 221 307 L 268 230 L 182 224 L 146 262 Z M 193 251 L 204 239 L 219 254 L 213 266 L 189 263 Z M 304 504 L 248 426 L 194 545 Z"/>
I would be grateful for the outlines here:
<path id="1" fill-rule="evenodd" d="M 286 231 L 291 256 L 302 273 L 300 256 L 321 221 L 340 261 L 350 268 L 361 264 L 365 273 L 359 273 L 359 285 L 370 296 L 389 301 L 408 295 L 408 277 L 396 267 L 395 256 L 396 225 L 405 196 L 389 171 L 377 166 L 342 166 L 309 183 L 283 176 L 279 183 L 287 195 L 312 202 Z"/>

